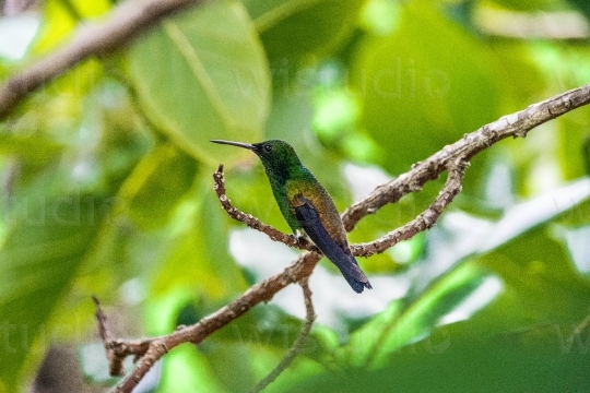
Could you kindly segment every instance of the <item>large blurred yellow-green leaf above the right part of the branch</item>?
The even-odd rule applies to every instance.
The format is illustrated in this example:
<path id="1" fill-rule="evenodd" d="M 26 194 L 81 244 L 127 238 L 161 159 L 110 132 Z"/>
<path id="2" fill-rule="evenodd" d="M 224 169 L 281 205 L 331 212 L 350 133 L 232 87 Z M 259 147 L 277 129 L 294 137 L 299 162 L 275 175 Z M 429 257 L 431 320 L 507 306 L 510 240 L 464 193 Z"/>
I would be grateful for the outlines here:
<path id="1" fill-rule="evenodd" d="M 352 67 L 363 124 L 394 174 L 502 115 L 502 64 L 429 2 L 406 4 L 397 31 L 369 37 Z M 461 53 L 461 57 L 457 57 Z"/>

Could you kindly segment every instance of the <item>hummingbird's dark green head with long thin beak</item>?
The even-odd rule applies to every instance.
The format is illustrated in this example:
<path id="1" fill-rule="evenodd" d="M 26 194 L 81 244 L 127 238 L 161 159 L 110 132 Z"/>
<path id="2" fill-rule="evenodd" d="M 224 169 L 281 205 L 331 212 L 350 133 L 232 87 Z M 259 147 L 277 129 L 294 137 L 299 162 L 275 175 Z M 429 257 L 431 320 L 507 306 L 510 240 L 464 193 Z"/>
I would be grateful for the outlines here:
<path id="1" fill-rule="evenodd" d="M 286 178 L 293 170 L 303 167 L 297 153 L 285 141 L 271 140 L 253 144 L 222 140 L 212 140 L 211 142 L 251 150 L 260 157 L 269 176 Z"/>

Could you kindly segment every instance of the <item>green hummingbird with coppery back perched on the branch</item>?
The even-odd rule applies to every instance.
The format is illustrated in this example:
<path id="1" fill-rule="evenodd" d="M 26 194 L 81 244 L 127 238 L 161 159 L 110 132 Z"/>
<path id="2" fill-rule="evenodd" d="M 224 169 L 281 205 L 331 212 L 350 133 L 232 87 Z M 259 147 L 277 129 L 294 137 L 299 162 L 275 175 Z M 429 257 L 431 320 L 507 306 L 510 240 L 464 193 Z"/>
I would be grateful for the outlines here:
<path id="1" fill-rule="evenodd" d="M 300 230 L 340 270 L 354 291 L 373 289 L 349 247 L 346 230 L 328 191 L 307 169 L 286 142 L 271 140 L 241 143 L 212 140 L 213 143 L 248 148 L 256 153 L 269 178 L 281 214 L 296 236 Z"/>

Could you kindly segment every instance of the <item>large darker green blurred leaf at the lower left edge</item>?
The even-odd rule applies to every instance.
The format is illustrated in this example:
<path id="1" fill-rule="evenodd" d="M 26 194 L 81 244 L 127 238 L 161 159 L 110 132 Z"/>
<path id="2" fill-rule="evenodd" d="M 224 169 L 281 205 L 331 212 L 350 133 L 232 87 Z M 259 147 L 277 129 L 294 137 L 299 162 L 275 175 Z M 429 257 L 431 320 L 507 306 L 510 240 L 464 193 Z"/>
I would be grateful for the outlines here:
<path id="1" fill-rule="evenodd" d="M 42 199 L 9 229 L 0 249 L 0 380 L 8 386 L 17 386 L 33 343 L 70 289 L 107 207 L 92 194 Z"/>

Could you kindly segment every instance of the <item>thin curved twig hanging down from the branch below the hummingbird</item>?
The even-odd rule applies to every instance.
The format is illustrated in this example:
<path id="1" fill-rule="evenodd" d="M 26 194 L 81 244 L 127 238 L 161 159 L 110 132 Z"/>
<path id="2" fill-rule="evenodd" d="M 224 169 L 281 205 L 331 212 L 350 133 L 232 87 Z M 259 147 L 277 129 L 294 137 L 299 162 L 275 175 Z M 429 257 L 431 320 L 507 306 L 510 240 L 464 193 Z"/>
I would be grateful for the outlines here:
<path id="1" fill-rule="evenodd" d="M 293 362 L 293 360 L 295 360 L 297 355 L 299 355 L 299 353 L 303 350 L 305 342 L 307 341 L 309 332 L 311 331 L 311 325 L 316 320 L 316 311 L 314 310 L 314 303 L 311 302 L 311 290 L 309 289 L 307 281 L 308 278 L 305 277 L 299 283 L 304 294 L 306 310 L 305 324 L 302 327 L 302 332 L 297 336 L 297 340 L 295 341 L 286 356 L 267 377 L 264 377 L 260 382 L 257 383 L 256 386 L 250 390 L 250 393 L 261 392 L 264 388 L 274 382 L 274 380 Z"/>

